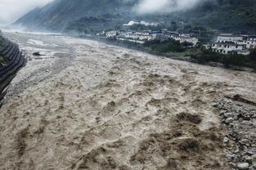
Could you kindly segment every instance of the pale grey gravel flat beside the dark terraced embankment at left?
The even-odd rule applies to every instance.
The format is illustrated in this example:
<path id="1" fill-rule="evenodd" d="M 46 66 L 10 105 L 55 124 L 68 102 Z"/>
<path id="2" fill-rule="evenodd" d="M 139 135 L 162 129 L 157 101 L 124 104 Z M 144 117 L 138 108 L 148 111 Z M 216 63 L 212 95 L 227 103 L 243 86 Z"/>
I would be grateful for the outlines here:
<path id="1" fill-rule="evenodd" d="M 2 104 L 7 104 L 8 101 L 13 100 L 29 87 L 34 87 L 43 80 L 52 78 L 52 75 L 60 73 L 71 65 L 76 56 L 73 47 L 58 40 L 58 38 L 65 37 L 61 34 L 19 33 L 16 31 L 2 34 L 12 42 L 16 42 L 20 51 L 28 59 L 26 67 L 13 79 Z M 42 56 L 34 56 L 33 53 L 37 51 L 40 51 Z"/>

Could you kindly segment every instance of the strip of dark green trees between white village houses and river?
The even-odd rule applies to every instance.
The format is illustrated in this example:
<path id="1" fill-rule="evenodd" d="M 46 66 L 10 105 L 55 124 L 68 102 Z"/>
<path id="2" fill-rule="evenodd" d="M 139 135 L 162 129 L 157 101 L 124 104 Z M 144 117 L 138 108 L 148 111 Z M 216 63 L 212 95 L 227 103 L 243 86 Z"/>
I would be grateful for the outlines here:
<path id="1" fill-rule="evenodd" d="M 175 40 L 160 42 L 158 40 L 146 42 L 144 47 L 151 51 L 158 52 L 168 56 L 185 57 L 190 56 L 192 60 L 200 64 L 209 64 L 210 62 L 221 63 L 225 67 L 239 66 L 248 67 L 256 70 L 256 49 L 251 50 L 249 56 L 222 53 L 206 50 L 198 46 L 189 48 L 191 44 L 180 43 Z"/>

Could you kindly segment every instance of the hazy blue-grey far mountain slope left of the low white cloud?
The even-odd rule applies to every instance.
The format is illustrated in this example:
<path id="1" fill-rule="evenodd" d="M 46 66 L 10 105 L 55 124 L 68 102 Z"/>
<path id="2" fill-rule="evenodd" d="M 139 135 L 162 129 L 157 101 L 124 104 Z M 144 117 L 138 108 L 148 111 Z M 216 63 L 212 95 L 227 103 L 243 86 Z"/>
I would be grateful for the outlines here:
<path id="1" fill-rule="evenodd" d="M 128 14 L 136 0 L 56 0 L 42 8 L 35 8 L 22 16 L 14 25 L 32 29 L 61 30 L 71 20 L 83 16 Z"/>

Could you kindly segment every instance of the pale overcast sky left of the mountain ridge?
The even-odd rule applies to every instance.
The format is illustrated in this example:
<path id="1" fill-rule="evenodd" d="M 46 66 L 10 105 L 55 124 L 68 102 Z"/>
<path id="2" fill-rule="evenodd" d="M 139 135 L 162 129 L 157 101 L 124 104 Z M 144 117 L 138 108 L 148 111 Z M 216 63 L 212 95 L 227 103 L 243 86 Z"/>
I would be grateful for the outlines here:
<path id="1" fill-rule="evenodd" d="M 52 0 L 0 0 L 0 25 L 11 24 L 34 7 L 46 5 Z"/>

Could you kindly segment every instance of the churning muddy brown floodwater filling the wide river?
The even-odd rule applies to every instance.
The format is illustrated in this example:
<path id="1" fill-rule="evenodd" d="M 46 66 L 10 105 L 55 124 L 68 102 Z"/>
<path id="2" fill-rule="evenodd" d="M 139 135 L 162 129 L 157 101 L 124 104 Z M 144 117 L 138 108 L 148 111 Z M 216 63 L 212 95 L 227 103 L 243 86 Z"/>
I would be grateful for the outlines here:
<path id="1" fill-rule="evenodd" d="M 14 80 L 30 83 L 0 110 L 0 169 L 230 169 L 212 105 L 236 94 L 256 101 L 256 74 L 27 36 L 8 34 L 27 51 L 31 42 L 59 52 L 30 60 Z"/>

